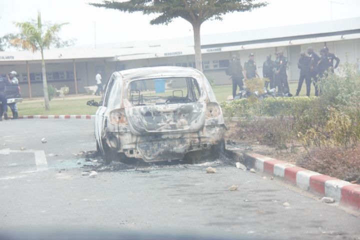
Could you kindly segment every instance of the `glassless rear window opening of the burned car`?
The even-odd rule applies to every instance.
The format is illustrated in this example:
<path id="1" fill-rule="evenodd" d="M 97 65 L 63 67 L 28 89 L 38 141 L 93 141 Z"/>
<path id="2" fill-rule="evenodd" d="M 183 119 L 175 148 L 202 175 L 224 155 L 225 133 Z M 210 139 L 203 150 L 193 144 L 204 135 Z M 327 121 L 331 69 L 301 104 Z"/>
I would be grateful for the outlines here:
<path id="1" fill-rule="evenodd" d="M 132 105 L 157 105 L 195 102 L 201 88 L 192 77 L 166 77 L 134 80 L 128 84 L 126 97 Z"/>

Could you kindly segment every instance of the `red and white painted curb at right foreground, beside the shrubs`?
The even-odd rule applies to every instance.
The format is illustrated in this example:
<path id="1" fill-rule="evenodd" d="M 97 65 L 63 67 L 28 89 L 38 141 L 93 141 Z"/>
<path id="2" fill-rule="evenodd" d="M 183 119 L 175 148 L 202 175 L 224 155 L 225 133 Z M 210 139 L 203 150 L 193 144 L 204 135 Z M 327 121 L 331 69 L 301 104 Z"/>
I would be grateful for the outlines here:
<path id="1" fill-rule="evenodd" d="M 301 189 L 332 197 L 340 205 L 360 210 L 360 185 L 310 171 L 296 165 L 256 153 L 243 154 L 243 163 L 289 181 Z"/>

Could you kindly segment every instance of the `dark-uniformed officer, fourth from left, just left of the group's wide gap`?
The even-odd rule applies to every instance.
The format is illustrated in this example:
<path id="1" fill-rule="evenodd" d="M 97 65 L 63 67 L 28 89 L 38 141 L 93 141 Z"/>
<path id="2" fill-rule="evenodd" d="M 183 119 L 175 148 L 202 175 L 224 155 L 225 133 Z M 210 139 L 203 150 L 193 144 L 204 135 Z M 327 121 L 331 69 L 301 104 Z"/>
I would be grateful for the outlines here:
<path id="1" fill-rule="evenodd" d="M 289 92 L 289 85 L 287 82 L 287 58 L 284 57 L 283 51 L 276 52 L 275 60 L 275 80 L 277 81 L 277 90 L 287 95 L 291 95 Z"/>

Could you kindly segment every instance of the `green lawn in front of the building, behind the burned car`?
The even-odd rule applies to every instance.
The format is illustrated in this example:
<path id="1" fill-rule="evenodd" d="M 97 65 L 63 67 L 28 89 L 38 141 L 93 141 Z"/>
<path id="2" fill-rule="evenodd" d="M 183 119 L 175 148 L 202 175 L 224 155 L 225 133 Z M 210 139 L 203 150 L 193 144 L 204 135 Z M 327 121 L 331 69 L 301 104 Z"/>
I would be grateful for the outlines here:
<path id="1" fill-rule="evenodd" d="M 295 94 L 297 88 L 297 82 L 289 83 L 290 92 Z M 212 86 L 217 101 L 225 101 L 228 95 L 231 95 L 231 85 L 217 85 Z M 300 95 L 305 95 L 306 87 L 302 85 Z M 311 86 L 311 95 L 314 94 L 314 87 Z M 45 111 L 44 103 L 42 99 L 24 100 L 21 103 L 17 103 L 19 115 L 65 115 L 65 114 L 94 114 L 96 107 L 86 105 L 88 100 L 95 99 L 100 100 L 99 96 L 70 96 L 65 99 L 54 98 L 50 101 L 50 111 Z M 10 109 L 8 110 L 11 116 Z"/>

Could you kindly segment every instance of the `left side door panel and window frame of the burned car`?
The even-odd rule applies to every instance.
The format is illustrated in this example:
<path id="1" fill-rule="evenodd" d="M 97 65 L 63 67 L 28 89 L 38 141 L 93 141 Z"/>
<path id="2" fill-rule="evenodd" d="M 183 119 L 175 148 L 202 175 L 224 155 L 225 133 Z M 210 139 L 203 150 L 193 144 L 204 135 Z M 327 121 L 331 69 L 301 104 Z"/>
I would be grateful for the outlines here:
<path id="1" fill-rule="evenodd" d="M 107 102 L 109 97 L 109 92 L 111 91 L 111 87 L 113 86 L 114 77 L 111 76 L 110 79 L 107 81 L 104 94 L 102 95 L 101 105 L 97 108 L 95 113 L 95 137 L 96 142 L 101 151 L 103 151 L 103 144 L 102 144 L 102 135 L 104 132 L 106 116 L 104 115 L 107 110 Z"/>

